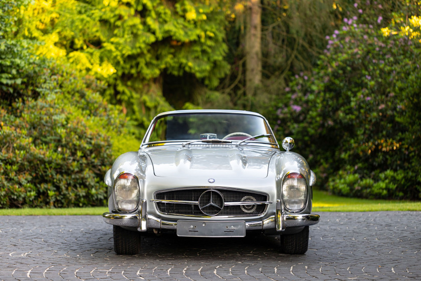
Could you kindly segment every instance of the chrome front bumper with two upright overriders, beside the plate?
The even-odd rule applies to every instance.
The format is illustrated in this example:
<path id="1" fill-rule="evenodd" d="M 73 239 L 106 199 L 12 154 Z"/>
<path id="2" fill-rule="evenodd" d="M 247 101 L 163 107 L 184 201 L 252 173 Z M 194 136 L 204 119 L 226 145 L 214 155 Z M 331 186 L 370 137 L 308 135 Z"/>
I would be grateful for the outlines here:
<path id="1" fill-rule="evenodd" d="M 155 229 L 177 229 L 177 220 L 163 220 L 146 212 L 146 200 L 141 200 L 136 213 L 110 213 L 102 214 L 104 221 L 108 224 L 136 227 L 138 231 L 147 231 L 148 228 Z M 245 230 L 266 230 L 276 229 L 283 231 L 288 227 L 300 227 L 314 225 L 319 222 L 319 215 L 316 214 L 286 214 L 280 200 L 276 202 L 276 214 L 263 220 L 246 221 Z M 205 220 L 205 219 L 204 219 Z M 228 219 L 229 220 L 229 219 Z"/>

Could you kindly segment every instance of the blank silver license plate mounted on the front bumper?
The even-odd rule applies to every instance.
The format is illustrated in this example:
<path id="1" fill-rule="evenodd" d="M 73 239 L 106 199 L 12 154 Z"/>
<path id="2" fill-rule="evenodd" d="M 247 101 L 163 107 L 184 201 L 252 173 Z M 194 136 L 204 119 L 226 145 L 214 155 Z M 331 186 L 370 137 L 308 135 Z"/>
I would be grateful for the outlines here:
<path id="1" fill-rule="evenodd" d="M 244 237 L 245 221 L 177 221 L 178 236 Z"/>

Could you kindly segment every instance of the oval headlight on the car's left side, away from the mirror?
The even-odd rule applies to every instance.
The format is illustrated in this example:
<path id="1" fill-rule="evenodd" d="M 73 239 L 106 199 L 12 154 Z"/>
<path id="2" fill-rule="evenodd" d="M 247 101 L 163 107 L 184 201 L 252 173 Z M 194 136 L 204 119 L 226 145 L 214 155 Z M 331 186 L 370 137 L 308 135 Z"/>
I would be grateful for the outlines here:
<path id="1" fill-rule="evenodd" d="M 117 209 L 130 212 L 139 205 L 139 182 L 129 173 L 121 174 L 114 183 L 114 195 Z"/>

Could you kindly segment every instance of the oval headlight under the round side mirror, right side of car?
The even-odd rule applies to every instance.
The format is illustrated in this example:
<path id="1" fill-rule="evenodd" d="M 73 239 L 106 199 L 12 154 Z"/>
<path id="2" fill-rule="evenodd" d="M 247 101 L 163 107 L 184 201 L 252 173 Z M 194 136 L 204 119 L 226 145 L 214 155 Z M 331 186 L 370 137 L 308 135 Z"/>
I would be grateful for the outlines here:
<path id="1" fill-rule="evenodd" d="M 307 202 L 307 183 L 300 173 L 288 174 L 282 184 L 282 196 L 285 208 L 290 211 L 299 211 Z"/>

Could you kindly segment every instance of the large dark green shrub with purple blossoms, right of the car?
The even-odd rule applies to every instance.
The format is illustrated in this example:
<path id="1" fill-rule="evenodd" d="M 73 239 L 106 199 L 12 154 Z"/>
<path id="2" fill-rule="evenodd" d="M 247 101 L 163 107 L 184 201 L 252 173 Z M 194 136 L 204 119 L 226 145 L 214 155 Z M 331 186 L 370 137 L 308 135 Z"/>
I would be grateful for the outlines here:
<path id="1" fill-rule="evenodd" d="M 313 73 L 285 89 L 277 130 L 336 194 L 420 199 L 419 18 L 355 4 Z"/>

